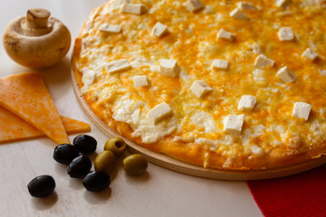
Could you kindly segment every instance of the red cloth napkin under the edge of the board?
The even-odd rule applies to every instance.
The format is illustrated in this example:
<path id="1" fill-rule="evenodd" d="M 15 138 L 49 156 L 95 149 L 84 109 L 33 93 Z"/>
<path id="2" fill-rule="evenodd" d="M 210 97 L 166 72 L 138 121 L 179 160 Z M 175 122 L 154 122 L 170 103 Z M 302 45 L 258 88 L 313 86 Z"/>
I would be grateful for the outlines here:
<path id="1" fill-rule="evenodd" d="M 326 216 L 326 169 L 288 177 L 247 181 L 264 216 Z"/>

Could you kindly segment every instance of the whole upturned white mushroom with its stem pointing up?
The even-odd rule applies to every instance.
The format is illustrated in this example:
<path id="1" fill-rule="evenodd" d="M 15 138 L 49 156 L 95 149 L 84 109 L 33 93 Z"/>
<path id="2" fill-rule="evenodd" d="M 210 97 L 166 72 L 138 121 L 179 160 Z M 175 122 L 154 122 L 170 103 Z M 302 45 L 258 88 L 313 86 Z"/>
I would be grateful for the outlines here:
<path id="1" fill-rule="evenodd" d="M 49 17 L 49 11 L 34 8 L 6 26 L 4 46 L 11 59 L 32 68 L 62 60 L 69 51 L 71 33 L 59 20 Z"/>

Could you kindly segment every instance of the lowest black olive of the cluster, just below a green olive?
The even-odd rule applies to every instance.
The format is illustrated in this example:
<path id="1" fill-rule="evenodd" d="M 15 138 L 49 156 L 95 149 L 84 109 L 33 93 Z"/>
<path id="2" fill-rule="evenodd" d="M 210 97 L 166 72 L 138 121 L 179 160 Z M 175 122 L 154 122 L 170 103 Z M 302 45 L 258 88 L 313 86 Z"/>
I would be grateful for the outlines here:
<path id="1" fill-rule="evenodd" d="M 110 175 L 101 171 L 89 173 L 82 180 L 87 191 L 100 192 L 110 186 Z"/>

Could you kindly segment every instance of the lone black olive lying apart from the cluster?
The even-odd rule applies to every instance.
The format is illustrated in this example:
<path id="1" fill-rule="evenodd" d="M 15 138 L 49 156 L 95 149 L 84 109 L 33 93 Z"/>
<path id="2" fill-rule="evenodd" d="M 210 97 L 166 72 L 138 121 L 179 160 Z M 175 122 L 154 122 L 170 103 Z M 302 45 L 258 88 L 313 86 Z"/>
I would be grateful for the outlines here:
<path id="1" fill-rule="evenodd" d="M 29 193 L 34 197 L 45 197 L 50 193 L 53 193 L 55 188 L 55 182 L 50 175 L 40 175 L 35 177 L 27 185 Z"/>

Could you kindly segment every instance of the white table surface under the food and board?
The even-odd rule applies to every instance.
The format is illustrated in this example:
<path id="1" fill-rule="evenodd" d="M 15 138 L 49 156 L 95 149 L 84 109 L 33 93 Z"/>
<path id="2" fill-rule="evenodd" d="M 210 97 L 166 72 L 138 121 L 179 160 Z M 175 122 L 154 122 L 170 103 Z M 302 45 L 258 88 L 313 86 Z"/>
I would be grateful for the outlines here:
<path id="1" fill-rule="evenodd" d="M 105 0 L 1 0 L 0 33 L 28 8 L 43 7 L 66 24 L 72 41 L 96 6 Z M 72 43 L 73 46 L 73 43 Z M 91 124 L 100 153 L 107 137 L 86 117 L 72 90 L 70 57 L 42 70 L 61 115 Z M 0 76 L 33 71 L 16 64 L 0 46 Z M 74 136 L 71 136 L 72 140 Z M 53 160 L 53 141 L 43 137 L 0 145 L 0 216 L 263 216 L 245 182 L 208 180 L 182 175 L 149 164 L 148 174 L 125 175 L 121 165 L 111 175 L 110 189 L 87 192 L 82 181 L 66 174 Z M 37 175 L 52 175 L 55 192 L 35 199 L 27 184 Z"/>

